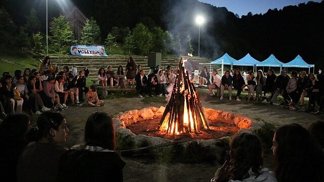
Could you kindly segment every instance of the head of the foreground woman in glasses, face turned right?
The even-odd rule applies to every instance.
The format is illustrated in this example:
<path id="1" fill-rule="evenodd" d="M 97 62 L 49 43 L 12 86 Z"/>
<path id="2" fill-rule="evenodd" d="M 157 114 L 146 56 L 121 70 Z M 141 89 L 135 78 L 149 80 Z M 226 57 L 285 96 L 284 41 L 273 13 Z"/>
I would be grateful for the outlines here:
<path id="1" fill-rule="evenodd" d="M 61 144 L 66 141 L 68 132 L 65 117 L 60 113 L 47 111 L 38 116 L 37 127 L 27 133 L 27 140 Z"/>

